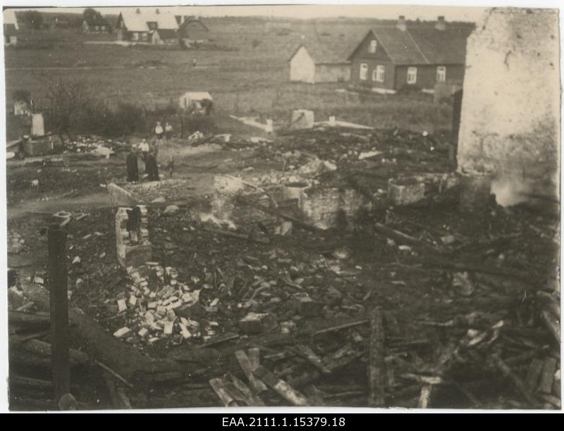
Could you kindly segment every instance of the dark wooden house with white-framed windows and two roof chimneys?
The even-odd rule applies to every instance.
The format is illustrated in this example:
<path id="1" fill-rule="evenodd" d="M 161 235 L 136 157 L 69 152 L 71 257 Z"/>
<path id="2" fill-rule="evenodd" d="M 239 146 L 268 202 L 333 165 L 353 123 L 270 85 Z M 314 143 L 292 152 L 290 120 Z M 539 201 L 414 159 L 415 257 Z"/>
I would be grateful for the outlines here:
<path id="1" fill-rule="evenodd" d="M 407 28 L 400 16 L 394 27 L 374 27 L 350 54 L 353 85 L 376 92 L 433 89 L 437 82 L 462 84 L 466 39 L 472 25 L 450 26 L 443 16 L 434 25 Z"/>

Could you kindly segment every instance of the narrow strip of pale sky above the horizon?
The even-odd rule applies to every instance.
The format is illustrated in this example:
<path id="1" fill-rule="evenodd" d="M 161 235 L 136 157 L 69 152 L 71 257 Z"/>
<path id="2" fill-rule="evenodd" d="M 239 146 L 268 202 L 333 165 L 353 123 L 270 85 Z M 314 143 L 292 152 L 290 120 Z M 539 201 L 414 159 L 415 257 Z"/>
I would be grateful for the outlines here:
<path id="1" fill-rule="evenodd" d="M 277 1 L 278 5 L 264 5 L 267 1 L 262 1 L 261 6 L 189 6 L 180 7 L 183 10 L 183 14 L 186 15 L 200 15 L 200 16 L 223 16 L 223 15 L 233 15 L 233 16 L 274 16 L 274 17 L 291 17 L 291 18 L 333 18 L 338 16 L 345 17 L 357 17 L 357 18 L 379 18 L 379 19 L 396 19 L 398 15 L 405 15 L 408 20 L 415 20 L 417 18 L 421 20 L 435 20 L 438 15 L 444 15 L 446 20 L 458 20 L 458 21 L 472 21 L 475 22 L 482 17 L 484 13 L 484 8 L 480 7 L 448 7 L 448 6 L 407 6 L 407 5 L 394 5 L 394 6 L 384 6 L 384 5 L 374 5 L 372 4 L 358 4 L 355 6 L 350 6 L 348 4 L 302 4 L 302 5 L 281 5 L 284 0 Z M 82 2 L 84 4 L 85 2 Z M 123 2 L 126 4 L 126 2 Z M 129 4 L 143 5 L 147 2 L 135 1 Z M 160 8 L 164 6 L 161 2 Z M 173 3 L 171 1 L 168 2 Z M 242 3 L 242 1 L 240 1 Z M 245 1 L 245 3 L 250 3 L 250 1 Z M 295 3 L 295 2 L 294 2 Z M 355 3 L 360 3 L 357 1 Z M 80 4 L 80 1 L 75 1 L 72 4 Z M 102 1 L 91 1 L 90 4 L 103 4 Z M 158 1 L 151 1 L 149 4 L 157 5 Z M 450 2 L 453 4 L 453 2 Z M 107 7 L 99 8 L 95 7 L 102 13 L 107 14 L 118 14 L 121 8 Z M 39 11 L 53 11 L 52 8 L 37 8 Z M 59 8 L 59 11 L 63 12 L 76 12 L 81 13 L 84 8 Z"/>

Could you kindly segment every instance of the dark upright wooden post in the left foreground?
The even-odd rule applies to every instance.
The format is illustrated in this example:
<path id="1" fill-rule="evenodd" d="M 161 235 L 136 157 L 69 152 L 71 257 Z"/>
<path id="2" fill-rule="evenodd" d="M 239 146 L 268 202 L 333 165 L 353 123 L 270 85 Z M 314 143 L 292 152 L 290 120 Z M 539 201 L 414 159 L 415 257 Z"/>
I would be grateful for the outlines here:
<path id="1" fill-rule="evenodd" d="M 56 399 L 71 392 L 71 358 L 68 349 L 68 291 L 66 281 L 66 233 L 49 227 L 49 294 L 51 311 L 51 362 Z"/>

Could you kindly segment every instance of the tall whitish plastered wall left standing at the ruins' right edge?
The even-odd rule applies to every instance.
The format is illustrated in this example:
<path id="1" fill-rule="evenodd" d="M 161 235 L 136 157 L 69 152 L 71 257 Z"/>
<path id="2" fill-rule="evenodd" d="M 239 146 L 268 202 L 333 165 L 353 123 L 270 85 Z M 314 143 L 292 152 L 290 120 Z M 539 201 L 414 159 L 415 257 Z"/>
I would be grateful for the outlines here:
<path id="1" fill-rule="evenodd" d="M 491 9 L 467 42 L 460 170 L 558 185 L 558 11 Z"/>

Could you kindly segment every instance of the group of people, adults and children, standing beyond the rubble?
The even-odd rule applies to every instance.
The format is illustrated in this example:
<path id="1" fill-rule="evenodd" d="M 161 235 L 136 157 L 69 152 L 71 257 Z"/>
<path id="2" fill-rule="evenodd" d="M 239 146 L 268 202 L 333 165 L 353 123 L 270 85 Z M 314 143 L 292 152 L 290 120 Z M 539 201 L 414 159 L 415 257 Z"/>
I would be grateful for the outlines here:
<path id="1" fill-rule="evenodd" d="M 161 125 L 160 121 L 157 121 L 157 125 L 154 127 L 154 134 L 156 139 L 152 142 L 148 142 L 147 139 L 143 139 L 137 145 L 131 146 L 131 151 L 129 152 L 127 158 L 125 159 L 125 164 L 127 165 L 127 180 L 128 182 L 138 182 L 139 181 L 139 165 L 142 161 L 145 173 L 143 177 L 148 181 L 159 181 L 159 165 L 157 164 L 157 155 L 159 154 L 159 146 L 162 144 L 163 137 L 171 139 L 173 128 L 170 123 L 166 122 L 164 127 Z M 172 177 L 174 170 L 174 159 L 169 157 L 166 163 L 166 169 L 168 170 L 170 176 Z"/>

